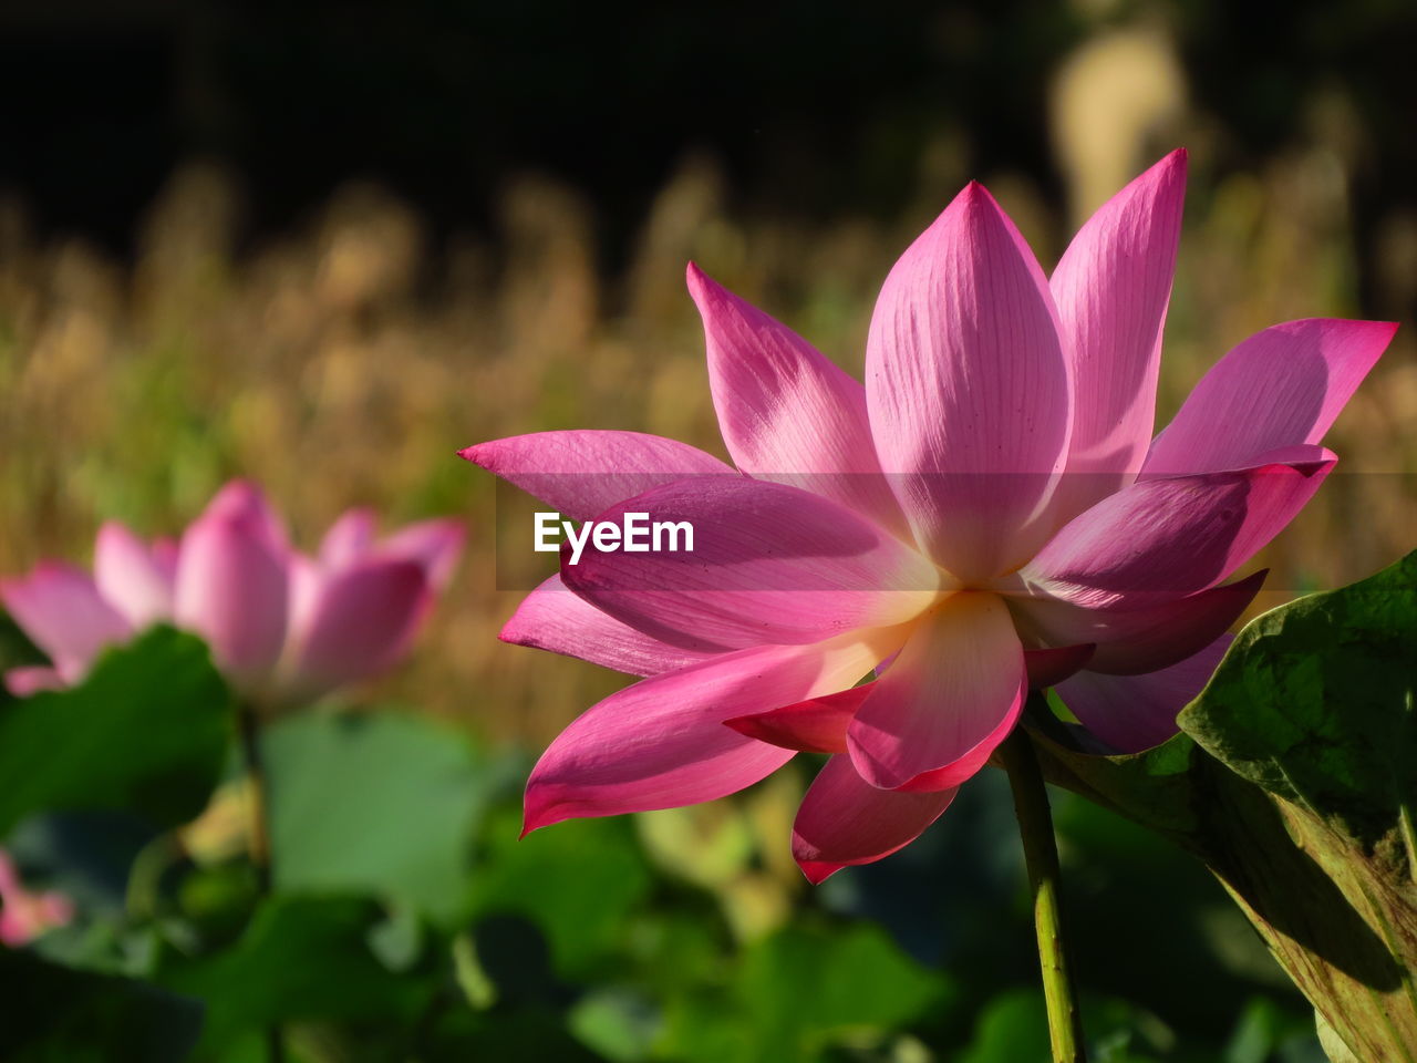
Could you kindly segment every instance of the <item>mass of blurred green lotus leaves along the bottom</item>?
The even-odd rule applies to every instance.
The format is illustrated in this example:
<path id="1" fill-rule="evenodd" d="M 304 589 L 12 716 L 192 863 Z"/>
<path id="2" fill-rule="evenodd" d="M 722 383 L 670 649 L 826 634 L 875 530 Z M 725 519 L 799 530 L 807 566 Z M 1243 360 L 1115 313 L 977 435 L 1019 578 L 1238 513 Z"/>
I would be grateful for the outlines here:
<path id="1" fill-rule="evenodd" d="M 261 1060 L 276 1026 L 306 1063 L 1046 1059 L 999 777 L 966 788 L 905 853 L 808 893 L 761 866 L 752 879 L 757 845 L 720 848 L 704 880 L 674 845 L 648 840 L 673 822 L 653 814 L 640 829 L 581 821 L 519 840 L 520 754 L 407 712 L 317 710 L 262 736 L 275 867 L 264 899 L 248 816 L 227 808 L 247 794 L 210 770 L 221 757 L 200 721 L 217 713 L 222 738 L 230 727 L 208 683 L 222 693 L 200 643 L 160 628 L 74 690 L 0 706 L 7 736 L 34 726 L 38 706 L 88 729 L 95 699 L 115 710 L 102 746 L 50 734 L 31 754 L 65 767 L 50 777 L 61 788 L 10 798 L 20 823 L 7 848 L 79 916 L 28 954 L 0 954 L 30 994 L 23 1020 L 0 1030 L 6 1059 Z M 162 717 L 167 696 L 191 697 L 197 723 Z M 123 716 L 135 703 L 166 719 L 159 744 L 150 721 Z M 207 771 L 173 788 L 180 763 Z M 703 836 L 752 836 L 772 806 L 791 811 L 802 781 L 704 809 Z M 201 819 L 169 829 L 208 798 Z M 1237 927 L 1199 866 L 1057 798 L 1084 981 L 1108 994 L 1084 1003 L 1095 1057 L 1318 1060 L 1305 1009 L 1258 944 L 1207 940 Z M 744 882 L 796 901 L 744 921 L 723 889 Z"/>

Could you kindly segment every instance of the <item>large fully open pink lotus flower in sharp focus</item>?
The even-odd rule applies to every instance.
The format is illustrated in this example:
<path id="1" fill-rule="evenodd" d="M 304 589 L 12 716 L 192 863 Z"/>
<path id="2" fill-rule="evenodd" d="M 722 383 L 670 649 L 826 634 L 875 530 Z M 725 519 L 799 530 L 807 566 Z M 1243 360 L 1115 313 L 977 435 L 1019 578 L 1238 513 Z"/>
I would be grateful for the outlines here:
<path id="1" fill-rule="evenodd" d="M 1396 327 L 1265 329 L 1152 439 L 1185 169 L 1132 181 L 1051 279 L 966 187 L 887 276 L 864 387 L 690 265 L 737 471 L 632 432 L 463 452 L 570 517 L 648 512 L 699 540 L 563 561 L 502 632 L 648 676 L 546 751 L 527 829 L 828 753 L 794 832 L 820 882 L 928 826 L 1030 686 L 1118 750 L 1175 733 L 1264 573 L 1224 581 L 1332 469 L 1319 441 Z"/>

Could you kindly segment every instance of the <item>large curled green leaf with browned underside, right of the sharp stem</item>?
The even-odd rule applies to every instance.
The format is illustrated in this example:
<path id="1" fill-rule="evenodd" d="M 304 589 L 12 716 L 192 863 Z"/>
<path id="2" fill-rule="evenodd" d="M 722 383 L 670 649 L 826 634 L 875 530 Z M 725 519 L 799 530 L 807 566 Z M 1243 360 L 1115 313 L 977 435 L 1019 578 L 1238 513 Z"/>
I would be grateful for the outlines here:
<path id="1" fill-rule="evenodd" d="M 1345 1059 L 1417 1043 L 1417 553 L 1248 624 L 1182 733 L 1091 755 L 1033 714 L 1046 771 L 1202 859 Z"/>

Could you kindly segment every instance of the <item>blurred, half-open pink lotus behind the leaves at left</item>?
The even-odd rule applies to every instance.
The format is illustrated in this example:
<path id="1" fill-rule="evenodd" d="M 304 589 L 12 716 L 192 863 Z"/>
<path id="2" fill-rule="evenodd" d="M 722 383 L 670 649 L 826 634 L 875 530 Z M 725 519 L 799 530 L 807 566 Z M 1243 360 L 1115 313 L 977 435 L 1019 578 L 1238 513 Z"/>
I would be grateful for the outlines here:
<path id="1" fill-rule="evenodd" d="M 103 646 L 169 621 L 201 635 L 244 694 L 309 702 L 402 656 L 461 549 L 458 522 L 410 524 L 376 541 L 374 514 L 354 509 L 306 557 L 261 492 L 234 480 L 180 544 L 147 544 L 109 522 L 92 577 L 48 561 L 0 581 L 0 601 L 52 662 L 11 669 L 6 685 L 24 696 L 75 683 Z"/>

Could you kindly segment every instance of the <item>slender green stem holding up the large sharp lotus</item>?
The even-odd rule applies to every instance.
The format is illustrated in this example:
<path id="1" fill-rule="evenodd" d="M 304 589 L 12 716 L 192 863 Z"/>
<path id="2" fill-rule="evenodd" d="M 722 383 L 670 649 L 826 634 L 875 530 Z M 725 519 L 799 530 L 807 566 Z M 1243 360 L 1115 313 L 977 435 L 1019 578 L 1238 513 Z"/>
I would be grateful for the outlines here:
<path id="1" fill-rule="evenodd" d="M 1077 1006 L 1073 974 L 1063 948 L 1063 913 L 1058 903 L 1061 873 L 1057 842 L 1053 838 L 1053 814 L 1049 811 L 1049 794 L 1033 743 L 1022 726 L 1015 727 L 1013 734 L 999 747 L 999 760 L 1013 789 L 1013 811 L 1019 818 L 1023 862 L 1029 869 L 1029 886 L 1033 892 L 1033 926 L 1039 938 L 1053 1063 L 1085 1063 L 1083 1013 Z"/>

